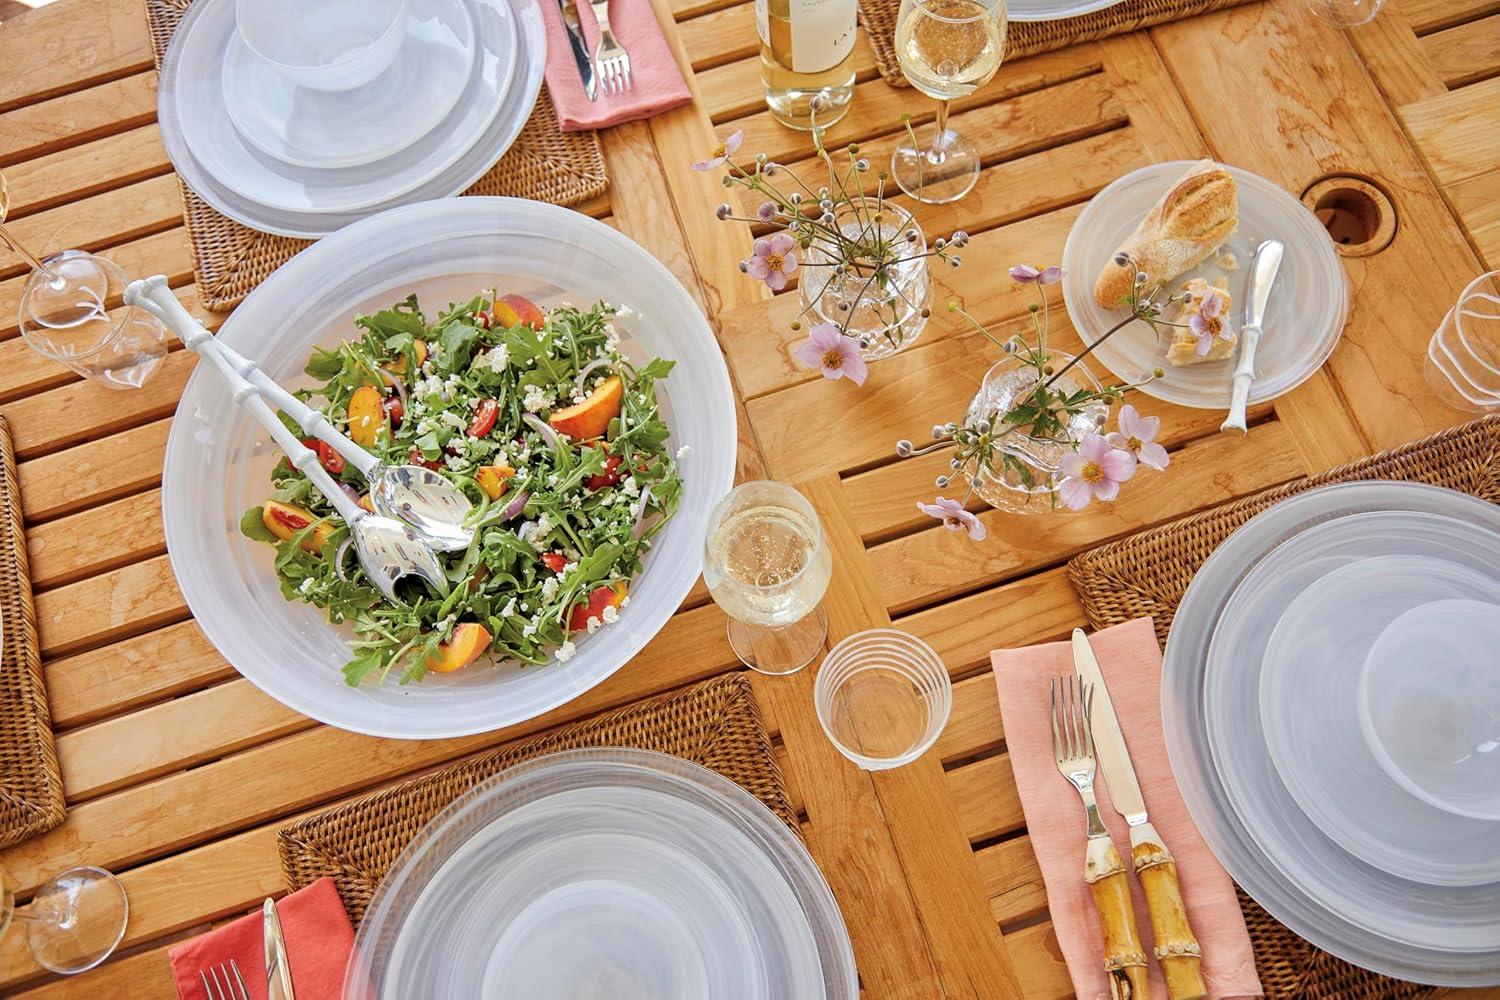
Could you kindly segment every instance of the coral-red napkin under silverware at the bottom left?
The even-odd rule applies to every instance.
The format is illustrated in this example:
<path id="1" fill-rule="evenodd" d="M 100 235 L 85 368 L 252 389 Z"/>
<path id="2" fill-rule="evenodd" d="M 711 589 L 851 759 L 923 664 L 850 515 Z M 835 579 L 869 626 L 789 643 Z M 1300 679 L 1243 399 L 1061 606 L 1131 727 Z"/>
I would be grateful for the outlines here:
<path id="1" fill-rule="evenodd" d="M 298 1000 L 338 1000 L 344 991 L 344 966 L 354 948 L 354 928 L 344 912 L 333 879 L 318 879 L 276 904 L 286 939 L 291 988 Z M 250 1000 L 266 1000 L 266 955 L 261 951 L 261 910 L 242 916 L 170 952 L 172 979 L 182 1000 L 208 1000 L 198 978 L 201 970 L 238 964 Z"/>

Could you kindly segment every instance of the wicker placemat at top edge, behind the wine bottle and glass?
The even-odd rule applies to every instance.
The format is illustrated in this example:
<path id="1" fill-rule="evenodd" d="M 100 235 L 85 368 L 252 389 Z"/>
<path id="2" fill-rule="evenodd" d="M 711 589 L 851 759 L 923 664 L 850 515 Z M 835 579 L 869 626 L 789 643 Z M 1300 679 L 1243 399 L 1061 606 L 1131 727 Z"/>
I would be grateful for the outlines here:
<path id="1" fill-rule="evenodd" d="M 1060 21 L 1011 21 L 1005 31 L 1005 58 L 1050 52 L 1077 42 L 1125 34 L 1154 24 L 1180 21 L 1196 13 L 1234 7 L 1250 0 L 1122 0 L 1113 7 Z M 860 21 L 870 36 L 874 64 L 892 87 L 910 87 L 896 61 L 896 15 L 902 0 L 860 0 Z"/>

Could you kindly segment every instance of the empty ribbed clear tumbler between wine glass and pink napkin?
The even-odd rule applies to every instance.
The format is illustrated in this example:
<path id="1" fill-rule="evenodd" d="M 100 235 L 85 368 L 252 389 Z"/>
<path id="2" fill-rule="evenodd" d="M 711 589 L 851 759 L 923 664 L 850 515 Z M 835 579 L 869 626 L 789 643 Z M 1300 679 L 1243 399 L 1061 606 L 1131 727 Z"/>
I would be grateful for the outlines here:
<path id="1" fill-rule="evenodd" d="M 888 771 L 938 741 L 952 711 L 952 681 L 938 652 L 916 636 L 870 628 L 824 660 L 813 706 L 838 753 L 866 771 Z"/>

